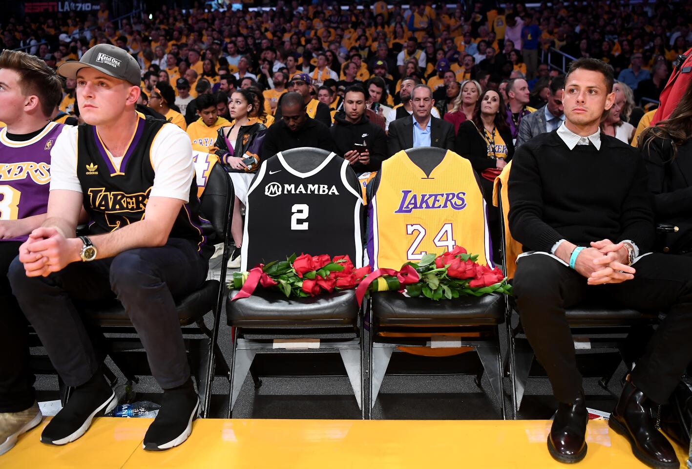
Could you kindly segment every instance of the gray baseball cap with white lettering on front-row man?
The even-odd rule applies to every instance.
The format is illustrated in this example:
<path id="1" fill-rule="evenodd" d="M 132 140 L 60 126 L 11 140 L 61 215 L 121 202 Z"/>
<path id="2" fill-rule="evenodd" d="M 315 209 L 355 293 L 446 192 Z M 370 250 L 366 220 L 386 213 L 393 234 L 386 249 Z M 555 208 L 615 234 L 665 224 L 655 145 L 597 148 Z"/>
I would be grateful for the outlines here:
<path id="1" fill-rule="evenodd" d="M 77 72 L 84 67 L 102 71 L 108 76 L 125 80 L 138 87 L 142 71 L 134 57 L 120 47 L 111 44 L 96 44 L 82 55 L 79 62 L 71 60 L 57 67 L 57 73 L 65 78 L 77 78 Z"/>

